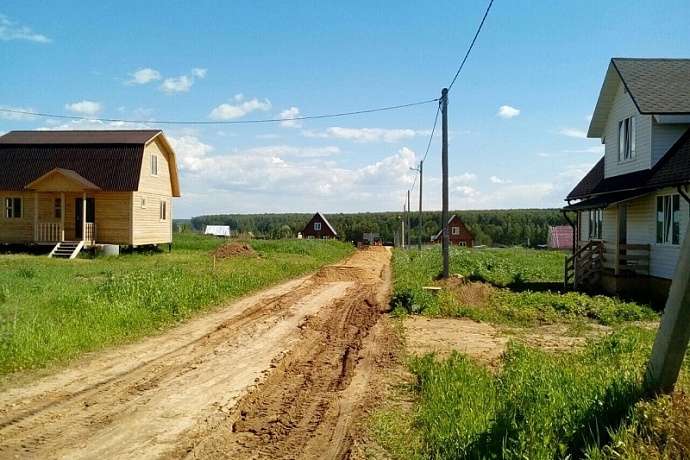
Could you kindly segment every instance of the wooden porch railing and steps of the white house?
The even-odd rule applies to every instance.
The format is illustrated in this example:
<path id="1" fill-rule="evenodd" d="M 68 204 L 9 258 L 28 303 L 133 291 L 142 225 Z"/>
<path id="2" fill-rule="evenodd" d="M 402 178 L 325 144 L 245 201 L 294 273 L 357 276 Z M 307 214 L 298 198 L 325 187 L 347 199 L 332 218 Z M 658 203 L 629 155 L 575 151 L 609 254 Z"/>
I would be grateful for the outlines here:
<path id="1" fill-rule="evenodd" d="M 565 260 L 564 289 L 593 288 L 603 274 L 616 277 L 649 275 L 649 244 L 590 240 L 580 241 L 578 248 Z"/>

